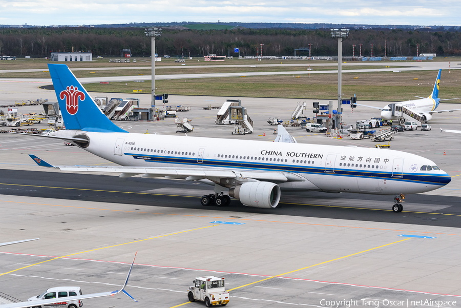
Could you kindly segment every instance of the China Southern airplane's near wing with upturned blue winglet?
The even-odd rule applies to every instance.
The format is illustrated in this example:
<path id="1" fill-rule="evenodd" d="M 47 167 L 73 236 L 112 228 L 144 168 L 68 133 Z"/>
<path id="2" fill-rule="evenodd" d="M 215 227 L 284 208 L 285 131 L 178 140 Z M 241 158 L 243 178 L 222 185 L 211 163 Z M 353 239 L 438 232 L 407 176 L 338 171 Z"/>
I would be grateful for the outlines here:
<path id="1" fill-rule="evenodd" d="M 246 179 L 256 179 L 271 182 L 292 182 L 304 181 L 305 179 L 289 172 L 284 171 L 254 171 L 254 170 L 229 170 L 219 168 L 169 168 L 169 167 L 122 167 L 122 166 L 53 166 L 35 155 L 29 155 L 38 166 L 56 168 L 61 171 L 79 172 L 114 172 L 120 173 L 120 177 L 131 177 L 142 174 L 142 177 L 167 177 L 185 180 L 209 179 L 219 182 L 222 178 L 231 178 L 238 181 Z M 1 307 L 0 307 L 1 308 Z"/>

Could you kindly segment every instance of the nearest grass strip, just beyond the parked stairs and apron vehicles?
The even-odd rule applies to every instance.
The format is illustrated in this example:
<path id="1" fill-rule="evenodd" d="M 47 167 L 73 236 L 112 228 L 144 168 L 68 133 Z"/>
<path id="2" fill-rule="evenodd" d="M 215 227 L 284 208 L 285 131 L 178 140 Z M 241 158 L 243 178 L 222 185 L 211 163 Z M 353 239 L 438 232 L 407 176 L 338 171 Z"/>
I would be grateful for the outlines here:
<path id="1" fill-rule="evenodd" d="M 354 79 L 354 77 L 358 77 Z M 413 78 L 417 78 L 414 80 Z M 344 73 L 343 97 L 357 95 L 359 100 L 402 101 L 427 97 L 432 91 L 434 71 Z M 126 84 L 126 85 L 125 85 Z M 286 97 L 300 99 L 337 99 L 337 74 L 292 75 L 157 80 L 158 93 L 177 95 L 213 95 L 227 97 Z M 86 84 L 91 92 L 133 93 L 142 89 L 150 94 L 151 83 L 123 82 L 109 85 Z M 461 70 L 442 73 L 439 97 L 461 97 Z M 461 102 L 453 100 L 450 102 Z"/>

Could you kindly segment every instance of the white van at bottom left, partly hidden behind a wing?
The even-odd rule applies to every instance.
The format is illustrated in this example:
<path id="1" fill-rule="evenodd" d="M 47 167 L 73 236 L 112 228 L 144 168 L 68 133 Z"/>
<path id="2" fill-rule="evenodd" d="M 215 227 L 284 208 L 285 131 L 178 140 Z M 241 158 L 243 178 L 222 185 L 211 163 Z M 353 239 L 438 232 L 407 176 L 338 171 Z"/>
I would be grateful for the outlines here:
<path id="1" fill-rule="evenodd" d="M 58 286 L 57 288 L 50 288 L 44 293 L 33 296 L 27 301 L 35 301 L 40 299 L 56 298 L 53 304 L 45 305 L 47 308 L 78 308 L 83 306 L 81 300 L 71 300 L 72 296 L 81 295 L 79 286 Z M 40 306 L 31 305 L 32 308 L 41 308 Z"/>

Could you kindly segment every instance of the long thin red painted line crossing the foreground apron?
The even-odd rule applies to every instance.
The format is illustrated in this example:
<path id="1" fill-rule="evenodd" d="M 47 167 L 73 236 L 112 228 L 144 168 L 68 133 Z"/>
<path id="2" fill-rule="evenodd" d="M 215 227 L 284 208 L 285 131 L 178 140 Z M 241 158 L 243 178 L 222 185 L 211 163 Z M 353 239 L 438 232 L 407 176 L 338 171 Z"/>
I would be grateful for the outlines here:
<path id="1" fill-rule="evenodd" d="M 43 255 L 11 253 L 11 252 L 0 252 L 0 253 L 2 253 L 2 254 L 10 254 L 10 255 L 23 255 L 23 256 L 33 256 L 33 257 L 56 258 L 55 256 L 43 256 Z M 62 258 L 62 259 L 78 260 L 78 261 L 104 262 L 104 263 L 117 263 L 117 264 L 131 264 L 129 262 L 104 261 L 104 260 L 81 259 L 81 258 Z M 162 269 L 178 269 L 178 270 L 187 270 L 187 271 L 202 271 L 202 272 L 213 272 L 213 273 L 224 273 L 224 274 L 238 274 L 238 275 L 257 276 L 257 277 L 272 277 L 273 276 L 273 275 L 258 275 L 258 274 L 239 273 L 239 272 L 225 272 L 225 271 L 212 271 L 212 270 L 201 270 L 201 269 L 191 269 L 191 268 L 180 268 L 180 267 L 177 267 L 177 266 L 162 266 L 162 265 L 152 265 L 152 264 L 142 264 L 142 263 L 135 263 L 135 264 L 136 265 L 141 265 L 141 266 L 151 266 L 153 268 L 162 268 Z M 329 284 L 351 285 L 351 286 L 357 286 L 359 288 L 373 288 L 373 289 L 380 289 L 380 290 L 401 291 L 401 292 L 403 291 L 403 292 L 412 292 L 412 293 L 421 293 L 421 294 L 430 294 L 430 295 L 433 294 L 433 295 L 442 295 L 442 296 L 461 297 L 461 295 L 455 295 L 455 294 L 444 294 L 444 293 L 434 293 L 434 292 L 425 292 L 425 291 L 414 291 L 414 290 L 405 290 L 405 289 L 386 288 L 384 286 L 373 286 L 373 285 L 353 284 L 353 283 L 344 283 L 344 282 L 312 280 L 312 279 L 295 278 L 295 277 L 283 277 L 283 276 L 278 276 L 278 277 L 275 277 L 275 278 L 291 279 L 291 280 L 302 280 L 302 281 L 329 283 Z"/>

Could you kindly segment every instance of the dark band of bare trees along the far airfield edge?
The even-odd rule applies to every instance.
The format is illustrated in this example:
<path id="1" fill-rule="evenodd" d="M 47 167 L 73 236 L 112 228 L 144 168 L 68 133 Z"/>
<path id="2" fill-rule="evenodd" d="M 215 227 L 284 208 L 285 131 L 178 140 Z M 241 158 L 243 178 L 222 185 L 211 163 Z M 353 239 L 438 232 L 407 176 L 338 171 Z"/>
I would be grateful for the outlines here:
<path id="1" fill-rule="evenodd" d="M 311 56 L 338 55 L 338 43 L 330 29 L 247 29 L 174 30 L 164 28 L 156 40 L 156 51 L 170 56 L 230 55 L 234 48 L 241 56 L 291 56 L 295 49 L 311 48 Z M 371 46 L 371 44 L 373 46 Z M 353 46 L 355 45 L 355 46 Z M 461 33 L 443 29 L 351 29 L 343 42 L 343 56 L 437 56 L 461 55 Z M 419 46 L 418 46 L 419 45 Z M 48 57 L 51 52 L 92 52 L 93 56 L 120 56 L 130 49 L 133 56 L 149 57 L 151 39 L 141 28 L 0 28 L 0 55 Z M 297 51 L 297 55 L 308 55 Z"/>

